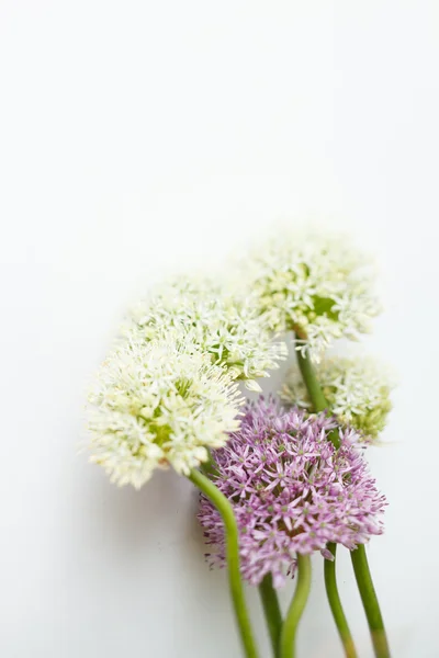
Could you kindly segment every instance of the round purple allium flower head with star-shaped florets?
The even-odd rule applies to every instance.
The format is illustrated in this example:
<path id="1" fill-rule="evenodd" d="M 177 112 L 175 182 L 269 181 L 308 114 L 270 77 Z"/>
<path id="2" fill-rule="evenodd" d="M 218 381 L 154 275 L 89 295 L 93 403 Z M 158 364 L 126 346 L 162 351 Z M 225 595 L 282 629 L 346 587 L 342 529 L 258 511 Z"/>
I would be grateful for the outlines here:
<path id="1" fill-rule="evenodd" d="M 259 585 L 271 572 L 275 587 L 294 574 L 295 555 L 320 551 L 328 542 L 350 551 L 381 534 L 386 504 L 371 478 L 351 429 L 339 430 L 335 450 L 328 432 L 336 422 L 319 413 L 285 411 L 274 400 L 247 405 L 239 431 L 214 452 L 214 481 L 233 502 L 239 529 L 243 576 Z M 225 563 L 219 514 L 202 496 L 199 520 L 211 565 Z"/>

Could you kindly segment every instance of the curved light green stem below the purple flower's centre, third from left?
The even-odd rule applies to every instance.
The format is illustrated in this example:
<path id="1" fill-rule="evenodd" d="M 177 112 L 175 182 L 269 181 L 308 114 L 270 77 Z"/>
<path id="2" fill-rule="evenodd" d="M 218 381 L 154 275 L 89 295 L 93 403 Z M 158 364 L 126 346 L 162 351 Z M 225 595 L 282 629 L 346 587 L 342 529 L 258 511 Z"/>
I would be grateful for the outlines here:
<path id="1" fill-rule="evenodd" d="M 279 658 L 295 657 L 295 634 L 311 590 L 311 557 L 297 555 L 297 585 L 281 633 Z"/>

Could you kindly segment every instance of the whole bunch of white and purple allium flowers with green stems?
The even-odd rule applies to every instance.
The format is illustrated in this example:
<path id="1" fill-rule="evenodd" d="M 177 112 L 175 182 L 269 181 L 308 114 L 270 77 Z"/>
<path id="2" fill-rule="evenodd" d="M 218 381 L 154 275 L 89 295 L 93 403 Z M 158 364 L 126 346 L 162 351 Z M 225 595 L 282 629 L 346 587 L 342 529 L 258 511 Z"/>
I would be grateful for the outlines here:
<path id="1" fill-rule="evenodd" d="M 206 559 L 227 569 L 244 656 L 260 656 L 244 581 L 259 588 L 274 658 L 296 655 L 314 554 L 340 655 L 358 655 L 337 586 L 341 546 L 375 656 L 387 658 L 364 545 L 383 532 L 386 501 L 367 450 L 392 384 L 363 355 L 328 356 L 334 341 L 370 330 L 373 268 L 346 237 L 282 232 L 234 274 L 167 282 L 131 313 L 90 393 L 91 460 L 120 486 L 138 489 L 169 467 L 193 483 Z M 241 385 L 260 392 L 258 379 L 289 356 L 285 337 L 292 364 L 279 398 L 245 402 Z M 278 590 L 291 578 L 281 611 Z"/>

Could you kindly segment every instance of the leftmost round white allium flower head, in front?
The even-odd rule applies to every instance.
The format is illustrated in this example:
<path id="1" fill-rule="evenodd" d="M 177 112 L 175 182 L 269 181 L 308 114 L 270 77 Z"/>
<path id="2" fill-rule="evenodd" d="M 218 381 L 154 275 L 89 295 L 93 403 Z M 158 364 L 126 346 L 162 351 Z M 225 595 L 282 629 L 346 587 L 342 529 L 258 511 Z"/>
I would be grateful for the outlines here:
<path id="1" fill-rule="evenodd" d="M 91 461 L 119 485 L 142 487 L 155 468 L 188 475 L 225 445 L 241 404 L 229 373 L 172 331 L 127 337 L 104 361 L 89 396 Z"/>

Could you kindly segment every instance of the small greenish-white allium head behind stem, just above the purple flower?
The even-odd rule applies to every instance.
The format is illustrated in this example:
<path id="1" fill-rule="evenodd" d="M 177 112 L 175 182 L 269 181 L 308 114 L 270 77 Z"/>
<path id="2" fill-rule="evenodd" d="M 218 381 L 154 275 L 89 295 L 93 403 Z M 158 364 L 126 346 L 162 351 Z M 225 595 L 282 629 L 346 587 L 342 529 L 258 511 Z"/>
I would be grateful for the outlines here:
<path id="1" fill-rule="evenodd" d="M 316 374 L 334 413 L 365 439 L 376 439 L 392 409 L 392 377 L 370 358 L 324 359 Z M 306 409 L 312 402 L 297 367 L 290 371 L 281 397 Z"/>

